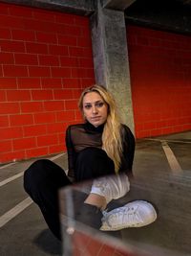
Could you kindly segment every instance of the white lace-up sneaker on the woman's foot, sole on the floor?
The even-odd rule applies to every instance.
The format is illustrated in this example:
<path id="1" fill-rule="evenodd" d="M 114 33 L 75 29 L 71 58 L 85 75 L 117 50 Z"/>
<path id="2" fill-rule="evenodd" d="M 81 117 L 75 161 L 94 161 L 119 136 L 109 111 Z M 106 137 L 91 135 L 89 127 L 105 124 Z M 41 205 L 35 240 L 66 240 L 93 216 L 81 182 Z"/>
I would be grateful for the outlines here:
<path id="1" fill-rule="evenodd" d="M 127 227 L 148 225 L 157 219 L 153 205 L 147 201 L 136 200 L 110 212 L 103 211 L 102 231 L 114 231 Z"/>

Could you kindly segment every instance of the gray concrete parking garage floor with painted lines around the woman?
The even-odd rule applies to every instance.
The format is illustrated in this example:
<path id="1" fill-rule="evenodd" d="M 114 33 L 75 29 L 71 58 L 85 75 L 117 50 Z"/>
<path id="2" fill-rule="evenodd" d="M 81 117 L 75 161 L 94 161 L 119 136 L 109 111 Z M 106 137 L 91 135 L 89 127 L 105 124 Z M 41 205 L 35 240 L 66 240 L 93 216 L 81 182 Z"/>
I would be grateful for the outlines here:
<path id="1" fill-rule="evenodd" d="M 191 255 L 190 152 L 191 131 L 137 141 L 135 179 L 130 193 L 117 203 L 149 200 L 157 206 L 159 218 L 149 226 L 124 229 L 124 244 L 142 244 L 149 249 L 154 246 L 170 250 L 171 255 Z M 67 169 L 66 154 L 51 159 Z M 23 190 L 22 175 L 33 161 L 0 166 L 1 256 L 62 254 L 62 245 L 54 239 L 36 205 L 25 200 L 28 195 Z"/>

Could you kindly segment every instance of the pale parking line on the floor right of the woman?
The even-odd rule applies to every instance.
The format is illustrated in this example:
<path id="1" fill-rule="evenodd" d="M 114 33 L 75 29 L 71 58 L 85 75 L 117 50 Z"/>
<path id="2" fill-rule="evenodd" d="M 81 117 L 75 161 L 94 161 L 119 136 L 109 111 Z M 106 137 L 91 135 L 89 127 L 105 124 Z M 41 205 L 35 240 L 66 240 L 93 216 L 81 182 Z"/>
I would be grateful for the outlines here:
<path id="1" fill-rule="evenodd" d="M 162 146 L 163 151 L 165 152 L 165 155 L 166 155 L 166 158 L 168 160 L 171 170 L 174 173 L 180 173 L 182 171 L 182 169 L 180 167 L 180 163 L 177 160 L 174 152 L 168 146 L 167 142 L 161 140 L 161 146 Z"/>

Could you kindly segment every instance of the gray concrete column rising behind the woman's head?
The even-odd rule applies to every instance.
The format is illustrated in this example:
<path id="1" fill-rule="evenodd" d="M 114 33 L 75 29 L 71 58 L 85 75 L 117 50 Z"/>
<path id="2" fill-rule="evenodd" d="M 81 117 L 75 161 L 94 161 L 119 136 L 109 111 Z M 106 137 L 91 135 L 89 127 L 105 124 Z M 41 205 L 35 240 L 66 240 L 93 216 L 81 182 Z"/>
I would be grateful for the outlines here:
<path id="1" fill-rule="evenodd" d="M 98 5 L 91 26 L 96 83 L 114 94 L 122 122 L 134 132 L 124 12 Z"/>

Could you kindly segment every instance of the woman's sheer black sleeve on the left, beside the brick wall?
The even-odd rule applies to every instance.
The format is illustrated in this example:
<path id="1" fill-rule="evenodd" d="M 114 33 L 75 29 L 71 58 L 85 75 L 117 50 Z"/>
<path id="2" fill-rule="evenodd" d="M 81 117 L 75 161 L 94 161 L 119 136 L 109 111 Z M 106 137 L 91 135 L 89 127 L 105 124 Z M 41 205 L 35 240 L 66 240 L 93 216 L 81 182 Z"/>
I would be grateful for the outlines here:
<path id="1" fill-rule="evenodd" d="M 68 152 L 68 176 L 74 178 L 74 166 L 76 160 L 76 152 L 74 151 L 74 145 L 71 139 L 71 127 L 66 130 L 66 148 Z"/>

